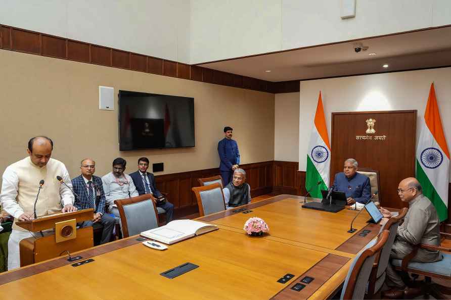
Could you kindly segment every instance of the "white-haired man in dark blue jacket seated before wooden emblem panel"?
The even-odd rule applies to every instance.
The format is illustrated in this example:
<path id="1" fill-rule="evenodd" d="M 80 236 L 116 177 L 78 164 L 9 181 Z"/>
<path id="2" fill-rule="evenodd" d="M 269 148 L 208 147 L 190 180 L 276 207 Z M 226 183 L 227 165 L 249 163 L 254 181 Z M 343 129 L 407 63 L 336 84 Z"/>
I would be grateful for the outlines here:
<path id="1" fill-rule="evenodd" d="M 370 178 L 357 173 L 358 163 L 354 159 L 344 161 L 343 172 L 335 174 L 334 191 L 346 194 L 347 205 L 355 202 L 366 204 L 371 198 Z"/>

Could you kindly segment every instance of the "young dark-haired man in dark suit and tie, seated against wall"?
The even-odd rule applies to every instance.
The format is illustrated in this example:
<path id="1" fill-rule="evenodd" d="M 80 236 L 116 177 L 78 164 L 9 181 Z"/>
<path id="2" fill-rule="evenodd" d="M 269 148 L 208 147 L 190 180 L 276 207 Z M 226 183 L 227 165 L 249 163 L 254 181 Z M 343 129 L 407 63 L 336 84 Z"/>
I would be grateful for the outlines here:
<path id="1" fill-rule="evenodd" d="M 157 207 L 166 211 L 166 223 L 169 223 L 172 220 L 174 205 L 169 203 L 157 189 L 155 186 L 154 174 L 147 172 L 148 168 L 149 160 L 146 157 L 142 157 L 138 160 L 138 171 L 128 175 L 130 175 L 131 179 L 133 179 L 134 186 L 136 186 L 136 189 L 140 195 L 154 195 Z"/>

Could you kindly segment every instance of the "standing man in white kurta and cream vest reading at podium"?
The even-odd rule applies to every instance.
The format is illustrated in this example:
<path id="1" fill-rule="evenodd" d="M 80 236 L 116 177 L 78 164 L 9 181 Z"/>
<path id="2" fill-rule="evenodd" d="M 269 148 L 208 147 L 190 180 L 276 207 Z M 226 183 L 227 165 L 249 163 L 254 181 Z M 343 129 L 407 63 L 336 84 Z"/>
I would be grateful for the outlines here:
<path id="1" fill-rule="evenodd" d="M 69 173 L 63 163 L 50 158 L 52 150 L 53 141 L 50 138 L 34 137 L 28 143 L 29 156 L 8 166 L 3 174 L 2 207 L 14 217 L 8 241 L 8 270 L 20 267 L 19 242 L 33 236 L 15 222 L 33 219 L 40 180 L 44 180 L 44 184 L 36 203 L 37 217 L 76 211 L 71 190 L 56 179 L 61 176 L 71 186 Z"/>

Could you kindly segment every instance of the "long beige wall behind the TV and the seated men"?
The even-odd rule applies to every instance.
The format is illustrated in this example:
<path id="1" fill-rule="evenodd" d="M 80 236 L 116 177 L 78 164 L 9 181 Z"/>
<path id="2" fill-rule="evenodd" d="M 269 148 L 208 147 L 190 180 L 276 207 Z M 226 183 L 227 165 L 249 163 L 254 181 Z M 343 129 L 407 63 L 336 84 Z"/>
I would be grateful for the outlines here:
<path id="1" fill-rule="evenodd" d="M 0 66 L 1 172 L 39 134 L 53 138 L 53 157 L 71 177 L 84 157 L 96 160 L 99 176 L 116 157 L 127 160 L 128 172 L 141 156 L 164 163 L 158 174 L 215 168 L 225 125 L 234 128 L 242 164 L 274 159 L 274 94 L 2 50 Z M 114 87 L 115 111 L 99 110 L 99 85 Z M 119 89 L 194 97 L 196 146 L 119 152 Z"/>

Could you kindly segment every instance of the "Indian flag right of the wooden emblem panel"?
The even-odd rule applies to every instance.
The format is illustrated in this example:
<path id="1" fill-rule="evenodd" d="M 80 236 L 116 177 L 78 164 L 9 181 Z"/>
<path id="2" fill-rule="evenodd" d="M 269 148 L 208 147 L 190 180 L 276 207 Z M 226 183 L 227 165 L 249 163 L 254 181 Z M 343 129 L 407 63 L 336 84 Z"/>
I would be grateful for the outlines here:
<path id="1" fill-rule="evenodd" d="M 448 215 L 449 151 L 441 126 L 434 83 L 431 84 L 420 125 L 417 179 L 423 187 L 423 194 L 434 204 L 440 221 L 443 221 Z"/>

